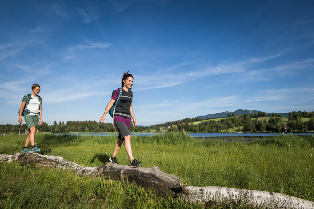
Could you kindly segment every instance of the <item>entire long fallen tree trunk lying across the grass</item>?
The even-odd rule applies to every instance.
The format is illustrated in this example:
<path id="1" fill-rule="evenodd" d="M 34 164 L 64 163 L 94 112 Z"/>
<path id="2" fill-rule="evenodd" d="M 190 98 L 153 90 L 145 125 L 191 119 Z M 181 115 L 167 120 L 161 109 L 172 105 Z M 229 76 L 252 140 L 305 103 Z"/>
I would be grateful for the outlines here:
<path id="1" fill-rule="evenodd" d="M 130 168 L 128 165 L 115 165 L 106 162 L 98 167 L 84 167 L 59 156 L 37 153 L 0 154 L 0 162 L 18 161 L 21 165 L 73 170 L 78 175 L 102 176 L 111 179 L 133 181 L 146 189 L 156 190 L 160 195 L 179 196 L 189 202 L 201 202 L 204 206 L 239 204 L 254 208 L 314 208 L 314 202 L 297 197 L 268 191 L 233 189 L 218 186 L 187 186 L 181 179 L 164 172 L 157 166 L 151 168 Z"/>

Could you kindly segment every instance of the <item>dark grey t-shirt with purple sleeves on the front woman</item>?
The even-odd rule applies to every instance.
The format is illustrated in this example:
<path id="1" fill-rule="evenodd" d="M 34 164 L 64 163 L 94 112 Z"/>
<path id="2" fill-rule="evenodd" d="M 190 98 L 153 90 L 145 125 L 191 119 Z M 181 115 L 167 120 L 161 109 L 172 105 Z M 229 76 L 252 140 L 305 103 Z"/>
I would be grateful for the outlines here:
<path id="1" fill-rule="evenodd" d="M 116 100 L 118 96 L 119 96 L 119 89 L 117 89 L 113 93 L 113 96 L 111 98 Z M 115 112 L 120 112 L 123 114 L 131 115 L 130 107 L 133 101 L 131 91 L 127 92 L 122 88 L 122 96 L 126 96 L 126 97 L 121 97 L 120 102 L 118 106 L 116 107 Z"/>

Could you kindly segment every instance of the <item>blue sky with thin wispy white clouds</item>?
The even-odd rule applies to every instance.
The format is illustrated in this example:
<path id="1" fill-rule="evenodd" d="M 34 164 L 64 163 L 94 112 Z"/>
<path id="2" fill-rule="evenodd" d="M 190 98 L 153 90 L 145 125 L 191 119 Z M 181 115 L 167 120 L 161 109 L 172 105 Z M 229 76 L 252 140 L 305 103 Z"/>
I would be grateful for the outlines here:
<path id="1" fill-rule="evenodd" d="M 314 111 L 313 10 L 313 1 L 1 1 L 0 124 L 18 123 L 34 83 L 49 125 L 99 121 L 127 71 L 139 125 Z"/>

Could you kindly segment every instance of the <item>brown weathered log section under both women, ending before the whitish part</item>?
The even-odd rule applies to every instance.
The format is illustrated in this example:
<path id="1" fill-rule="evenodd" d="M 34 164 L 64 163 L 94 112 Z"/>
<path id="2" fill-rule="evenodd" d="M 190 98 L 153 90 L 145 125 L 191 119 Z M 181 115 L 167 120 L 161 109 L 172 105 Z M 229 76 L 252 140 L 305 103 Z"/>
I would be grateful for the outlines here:
<path id="1" fill-rule="evenodd" d="M 43 155 L 38 153 L 15 153 L 14 155 L 0 154 L 0 161 L 18 161 L 21 165 L 36 165 L 38 167 L 59 168 L 62 170 L 73 170 L 78 175 L 89 175 L 92 177 L 102 176 L 111 179 L 134 181 L 145 189 L 155 189 L 157 194 L 169 194 L 176 196 L 180 188 L 181 179 L 160 171 L 157 166 L 151 168 L 131 168 L 129 165 L 115 165 L 106 162 L 98 167 L 84 167 L 66 160 L 59 156 Z"/>

